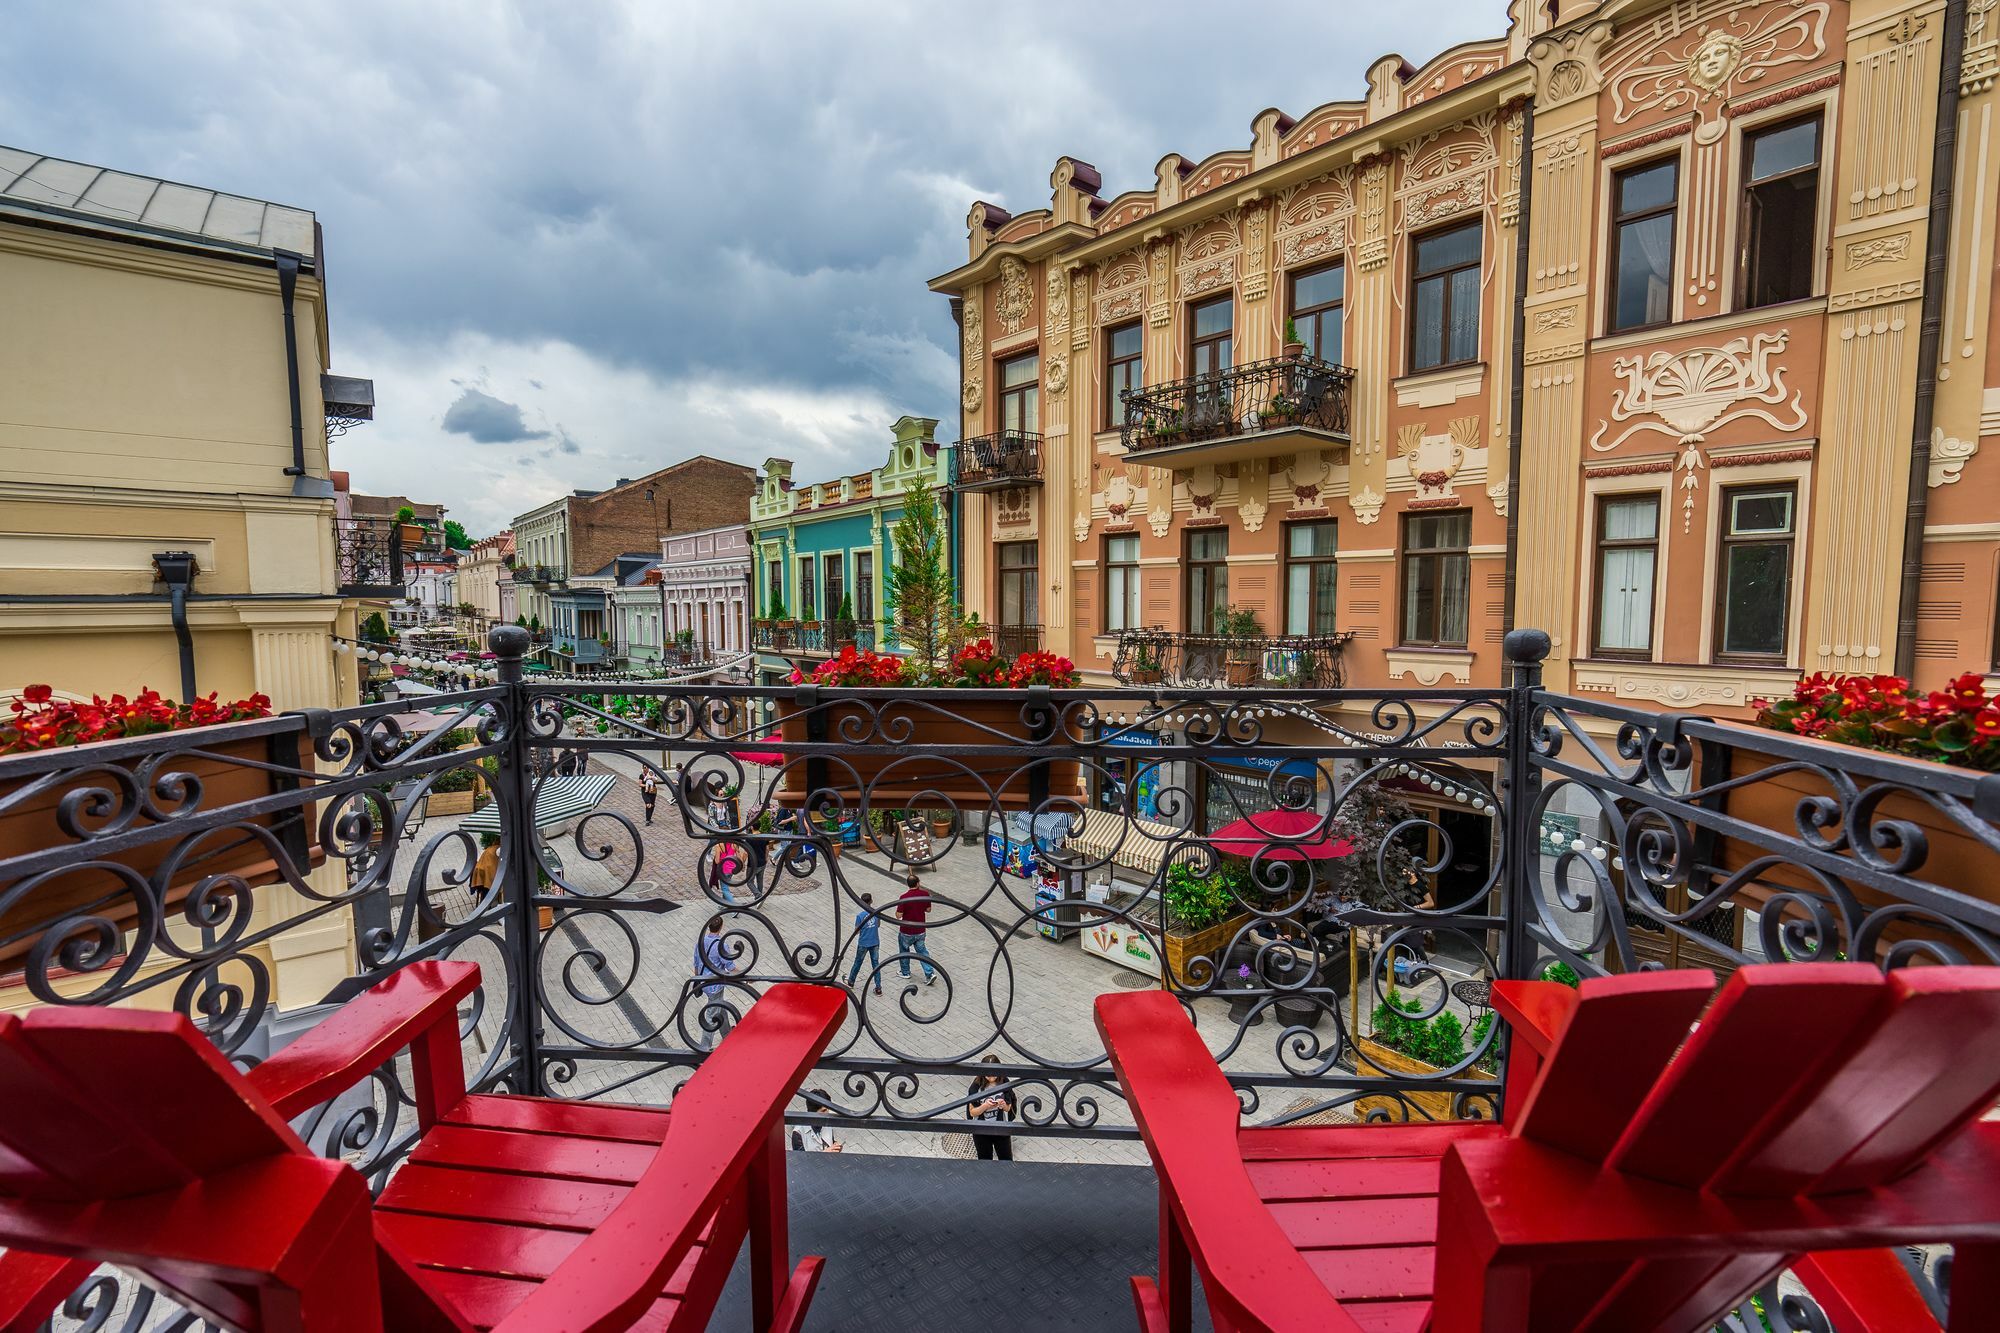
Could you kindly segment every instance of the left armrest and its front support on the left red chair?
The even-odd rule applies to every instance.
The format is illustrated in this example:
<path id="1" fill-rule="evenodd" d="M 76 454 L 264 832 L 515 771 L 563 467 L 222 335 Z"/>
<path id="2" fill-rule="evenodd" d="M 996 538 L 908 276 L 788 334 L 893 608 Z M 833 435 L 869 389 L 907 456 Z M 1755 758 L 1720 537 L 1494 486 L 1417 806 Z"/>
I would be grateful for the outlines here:
<path id="1" fill-rule="evenodd" d="M 466 1095 L 458 1003 L 478 985 L 478 963 L 430 959 L 398 969 L 252 1069 L 250 1087 L 290 1119 L 338 1097 L 410 1047 L 416 1115 L 428 1129 Z"/>

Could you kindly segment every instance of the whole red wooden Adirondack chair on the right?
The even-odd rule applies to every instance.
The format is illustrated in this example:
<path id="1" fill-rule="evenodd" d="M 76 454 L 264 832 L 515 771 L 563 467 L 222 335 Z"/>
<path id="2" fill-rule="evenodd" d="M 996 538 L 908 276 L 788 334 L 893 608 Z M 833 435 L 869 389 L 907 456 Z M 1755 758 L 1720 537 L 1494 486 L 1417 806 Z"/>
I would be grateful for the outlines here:
<path id="1" fill-rule="evenodd" d="M 2000 969 L 1746 967 L 1710 995 L 1496 983 L 1504 1127 L 1330 1129 L 1238 1129 L 1172 995 L 1100 997 L 1160 1175 L 1140 1325 L 1188 1327 L 1190 1259 L 1216 1329 L 1314 1333 L 1692 1333 L 1794 1265 L 1840 1333 L 1906 1333 L 1938 1323 L 1872 1247 L 1954 1241 L 1952 1333 L 2000 1329 L 2000 1125 L 1970 1125 Z"/>

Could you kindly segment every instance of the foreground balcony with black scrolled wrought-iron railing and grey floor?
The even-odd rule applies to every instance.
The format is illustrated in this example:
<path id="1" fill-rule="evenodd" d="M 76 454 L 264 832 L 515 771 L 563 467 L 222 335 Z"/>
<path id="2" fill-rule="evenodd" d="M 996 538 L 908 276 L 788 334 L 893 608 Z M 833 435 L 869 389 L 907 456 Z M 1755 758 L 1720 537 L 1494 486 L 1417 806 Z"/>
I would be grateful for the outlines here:
<path id="1" fill-rule="evenodd" d="M 2000 963 L 2000 777 L 1550 693 L 1532 630 L 1500 689 L 1214 689 L 1192 669 L 616 699 L 526 681 L 526 638 L 496 628 L 500 683 L 426 697 L 424 731 L 398 703 L 0 757 L 0 1013 L 172 1009 L 254 1065 L 322 1003 L 470 959 L 468 1087 L 620 1105 L 674 1101 L 772 985 L 834 987 L 848 1025 L 788 1107 L 848 1145 L 792 1175 L 794 1237 L 832 1255 L 814 1319 L 956 1327 L 1014 1283 L 1000 1323 L 1130 1327 L 1156 1195 L 1100 993 L 1170 991 L 1244 1127 L 1506 1123 L 1496 979 Z M 1276 642 L 1258 652 L 1294 650 Z M 588 775 L 564 773 L 578 755 Z M 1218 837 L 1274 811 L 1294 821 Z M 880 909 L 910 873 L 934 899 L 926 953 L 896 931 L 866 951 L 862 893 Z M 728 971 L 696 971 L 708 921 Z M 1744 1053 L 1744 1079 L 1782 1043 Z M 1014 1119 L 968 1117 L 976 1075 Z M 418 1077 L 386 1061 L 296 1133 L 380 1187 Z M 1726 1155 L 1748 1127 L 1688 1133 Z M 1042 1161 L 948 1161 L 992 1135 Z M 886 1293 L 912 1219 L 936 1217 L 954 1221 L 932 1277 Z M 128 1281 L 100 1275 L 56 1327 L 192 1327 Z M 1764 1285 L 1732 1333 L 1830 1327 L 1796 1287 L 1746 1281 Z"/>

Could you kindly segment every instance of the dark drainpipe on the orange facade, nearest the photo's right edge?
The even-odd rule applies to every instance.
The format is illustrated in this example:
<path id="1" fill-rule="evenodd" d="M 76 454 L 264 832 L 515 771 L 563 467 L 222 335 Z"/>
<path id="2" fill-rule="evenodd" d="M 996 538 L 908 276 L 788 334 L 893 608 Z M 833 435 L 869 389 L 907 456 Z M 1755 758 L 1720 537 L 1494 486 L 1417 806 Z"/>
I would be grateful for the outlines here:
<path id="1" fill-rule="evenodd" d="M 1916 598 L 1924 582 L 1930 508 L 1930 430 L 1938 414 L 1938 342 L 1944 336 L 1944 270 L 1952 256 L 1952 156 L 1958 152 L 1958 74 L 1964 68 L 1966 0 L 1946 0 L 1938 120 L 1930 152 L 1930 230 L 1924 238 L 1924 322 L 1916 338 L 1916 412 L 1910 420 L 1910 502 L 1902 520 L 1902 594 L 1896 606 L 1896 675 L 1916 675 Z M 1974 256 L 1972 262 L 1978 262 Z"/>

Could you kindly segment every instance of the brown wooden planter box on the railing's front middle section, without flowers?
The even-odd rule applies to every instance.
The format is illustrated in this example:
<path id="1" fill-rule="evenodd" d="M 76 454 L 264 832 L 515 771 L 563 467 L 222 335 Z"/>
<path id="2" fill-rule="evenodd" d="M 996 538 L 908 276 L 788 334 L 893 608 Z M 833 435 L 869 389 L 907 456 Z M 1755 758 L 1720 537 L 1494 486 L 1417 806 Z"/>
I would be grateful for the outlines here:
<path id="1" fill-rule="evenodd" d="M 842 793 L 850 805 L 868 791 L 872 809 L 938 807 L 940 797 L 960 811 L 998 805 L 1004 811 L 1034 809 L 1028 783 L 1034 771 L 1008 751 L 964 759 L 932 757 L 930 751 L 948 745 L 1034 745 L 1036 737 L 1022 723 L 1020 701 L 954 701 L 950 691 L 938 691 L 936 703 L 952 717 L 932 713 L 904 701 L 842 701 L 836 691 L 820 695 L 814 717 L 806 717 L 788 701 L 778 701 L 778 735 L 788 743 L 806 743 L 810 723 L 824 723 L 822 741 L 842 745 L 838 757 L 792 759 L 774 793 L 778 805 L 798 807 L 818 787 Z M 870 717 L 878 711 L 880 725 Z M 908 727 L 908 737 L 904 729 Z M 894 737 L 894 741 L 884 739 Z M 848 737 L 860 737 L 850 741 Z M 1042 761 L 1048 775 L 1048 799 L 1082 795 L 1082 761 Z M 1004 787 L 1002 787 L 1004 783 Z"/>

